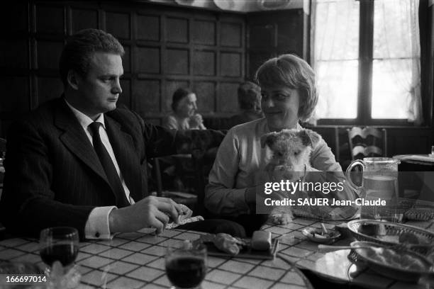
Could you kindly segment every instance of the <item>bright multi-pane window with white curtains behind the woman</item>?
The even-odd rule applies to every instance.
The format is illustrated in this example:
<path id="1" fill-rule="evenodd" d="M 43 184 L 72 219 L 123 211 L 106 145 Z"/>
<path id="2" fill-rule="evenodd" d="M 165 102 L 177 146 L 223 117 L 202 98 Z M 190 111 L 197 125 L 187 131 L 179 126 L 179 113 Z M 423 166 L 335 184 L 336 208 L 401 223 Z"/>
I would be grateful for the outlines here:
<path id="1" fill-rule="evenodd" d="M 316 0 L 312 8 L 319 123 L 418 123 L 418 0 Z"/>

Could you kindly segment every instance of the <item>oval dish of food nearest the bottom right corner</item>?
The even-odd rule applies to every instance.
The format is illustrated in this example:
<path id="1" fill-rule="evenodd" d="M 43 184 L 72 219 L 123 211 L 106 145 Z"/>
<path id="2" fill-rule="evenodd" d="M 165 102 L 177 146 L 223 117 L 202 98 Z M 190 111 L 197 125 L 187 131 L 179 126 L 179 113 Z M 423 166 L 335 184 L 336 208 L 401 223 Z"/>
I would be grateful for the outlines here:
<path id="1" fill-rule="evenodd" d="M 433 275 L 434 266 L 425 256 L 401 247 L 382 246 L 370 242 L 352 242 L 357 261 L 361 260 L 373 271 L 395 280 L 418 282 L 422 276 Z M 359 249 L 356 249 L 360 247 Z"/>

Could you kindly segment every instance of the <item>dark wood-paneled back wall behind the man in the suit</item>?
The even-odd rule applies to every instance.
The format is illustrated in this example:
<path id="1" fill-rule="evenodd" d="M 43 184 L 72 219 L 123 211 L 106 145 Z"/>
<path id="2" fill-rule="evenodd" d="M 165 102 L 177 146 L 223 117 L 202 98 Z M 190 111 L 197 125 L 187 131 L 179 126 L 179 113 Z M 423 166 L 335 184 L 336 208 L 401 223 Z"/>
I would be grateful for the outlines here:
<path id="1" fill-rule="evenodd" d="M 2 10 L 8 13 L 0 28 L 0 137 L 17 115 L 60 96 L 62 47 L 83 28 L 101 28 L 121 41 L 119 102 L 146 120 L 160 123 L 179 86 L 196 92 L 205 116 L 238 109 L 236 89 L 245 79 L 242 14 L 139 1 L 17 1 Z"/>

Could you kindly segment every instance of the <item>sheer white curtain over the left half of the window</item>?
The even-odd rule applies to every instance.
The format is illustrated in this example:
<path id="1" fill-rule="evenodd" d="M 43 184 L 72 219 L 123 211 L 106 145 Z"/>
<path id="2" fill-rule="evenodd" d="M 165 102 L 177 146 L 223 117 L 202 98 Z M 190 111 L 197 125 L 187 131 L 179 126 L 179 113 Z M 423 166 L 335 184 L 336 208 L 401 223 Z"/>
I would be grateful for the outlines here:
<path id="1" fill-rule="evenodd" d="M 312 1 L 311 63 L 319 94 L 313 120 L 357 113 L 358 6 L 354 0 Z"/>

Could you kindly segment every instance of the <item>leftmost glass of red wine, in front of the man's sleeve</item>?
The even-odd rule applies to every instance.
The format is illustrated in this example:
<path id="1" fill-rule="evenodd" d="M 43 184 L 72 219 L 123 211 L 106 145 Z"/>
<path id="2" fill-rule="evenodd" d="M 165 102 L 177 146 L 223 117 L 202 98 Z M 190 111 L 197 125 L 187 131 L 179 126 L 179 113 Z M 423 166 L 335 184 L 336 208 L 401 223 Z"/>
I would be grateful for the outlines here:
<path id="1" fill-rule="evenodd" d="M 79 251 L 79 234 L 73 227 L 51 227 L 40 231 L 40 257 L 48 266 L 60 261 L 71 268 Z M 65 270 L 66 271 L 66 270 Z"/>

